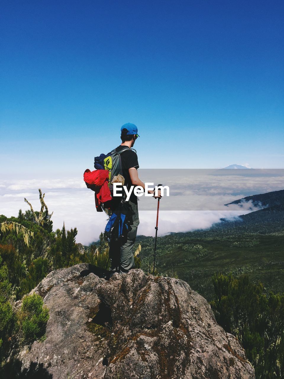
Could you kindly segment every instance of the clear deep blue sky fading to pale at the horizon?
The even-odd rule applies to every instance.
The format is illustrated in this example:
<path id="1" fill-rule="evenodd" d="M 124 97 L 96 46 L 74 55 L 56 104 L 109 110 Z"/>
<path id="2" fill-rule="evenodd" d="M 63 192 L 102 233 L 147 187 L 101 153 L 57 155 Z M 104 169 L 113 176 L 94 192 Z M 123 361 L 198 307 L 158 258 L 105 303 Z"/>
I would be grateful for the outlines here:
<path id="1" fill-rule="evenodd" d="M 283 168 L 283 13 L 280 1 L 2 4 L 0 175 L 80 177 L 125 122 L 141 168 Z"/>

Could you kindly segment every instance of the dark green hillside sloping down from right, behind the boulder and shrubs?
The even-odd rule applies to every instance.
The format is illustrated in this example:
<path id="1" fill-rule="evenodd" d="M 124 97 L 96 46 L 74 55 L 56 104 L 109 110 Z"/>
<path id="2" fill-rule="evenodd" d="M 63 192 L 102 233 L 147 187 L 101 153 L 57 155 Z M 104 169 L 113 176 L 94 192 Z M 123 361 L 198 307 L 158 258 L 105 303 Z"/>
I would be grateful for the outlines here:
<path id="1" fill-rule="evenodd" d="M 208 230 L 171 233 L 158 238 L 156 267 L 178 275 L 200 294 L 211 299 L 211 277 L 216 272 L 248 274 L 261 280 L 266 290 L 284 291 L 284 191 L 245 198 L 264 201 L 267 208 L 223 221 Z M 240 200 L 237 200 L 239 202 Z M 272 206 L 269 206 L 273 204 Z M 138 236 L 140 257 L 146 270 L 153 264 L 154 238 Z"/>

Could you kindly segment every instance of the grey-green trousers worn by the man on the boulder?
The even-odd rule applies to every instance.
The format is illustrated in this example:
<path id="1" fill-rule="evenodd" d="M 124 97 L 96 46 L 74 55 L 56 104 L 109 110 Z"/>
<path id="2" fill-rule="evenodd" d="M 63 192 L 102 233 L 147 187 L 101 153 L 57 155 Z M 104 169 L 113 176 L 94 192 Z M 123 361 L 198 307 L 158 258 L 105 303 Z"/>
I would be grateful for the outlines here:
<path id="1" fill-rule="evenodd" d="M 136 240 L 137 227 L 139 225 L 138 206 L 129 201 L 134 215 L 130 218 L 129 231 L 127 235 L 122 237 L 122 241 L 119 242 L 119 246 L 115 248 L 114 242 L 111 243 L 109 249 L 109 258 L 111 260 L 111 271 L 115 271 L 115 268 L 119 266 L 120 274 L 128 273 L 131 268 L 135 267 L 133 256 L 133 245 Z"/>

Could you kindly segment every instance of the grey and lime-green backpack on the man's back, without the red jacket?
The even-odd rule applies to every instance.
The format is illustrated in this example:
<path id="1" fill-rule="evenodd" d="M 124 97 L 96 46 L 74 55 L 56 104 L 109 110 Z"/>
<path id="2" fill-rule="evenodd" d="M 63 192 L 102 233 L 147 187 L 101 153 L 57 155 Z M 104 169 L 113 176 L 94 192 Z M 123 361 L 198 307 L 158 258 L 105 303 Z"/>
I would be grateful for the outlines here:
<path id="1" fill-rule="evenodd" d="M 99 157 L 95 157 L 95 168 L 103 168 L 109 172 L 108 186 L 109 190 L 111 191 L 111 197 L 113 197 L 113 185 L 111 184 L 112 179 L 118 174 L 122 175 L 122 161 L 120 154 L 128 150 L 134 150 L 136 152 L 135 149 L 129 149 L 129 147 L 126 147 L 125 149 L 122 149 L 120 151 L 115 151 L 114 149 L 106 155 L 101 154 Z"/>

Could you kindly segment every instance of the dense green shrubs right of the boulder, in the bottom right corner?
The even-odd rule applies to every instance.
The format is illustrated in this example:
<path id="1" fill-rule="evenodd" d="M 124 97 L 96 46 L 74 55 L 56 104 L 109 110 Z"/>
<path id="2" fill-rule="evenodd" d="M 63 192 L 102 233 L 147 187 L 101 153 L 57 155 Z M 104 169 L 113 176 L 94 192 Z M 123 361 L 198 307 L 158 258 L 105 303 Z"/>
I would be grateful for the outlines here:
<path id="1" fill-rule="evenodd" d="M 246 351 L 258 379 L 284 374 L 284 294 L 264 292 L 247 275 L 215 274 L 212 278 L 217 322 L 234 334 Z"/>

